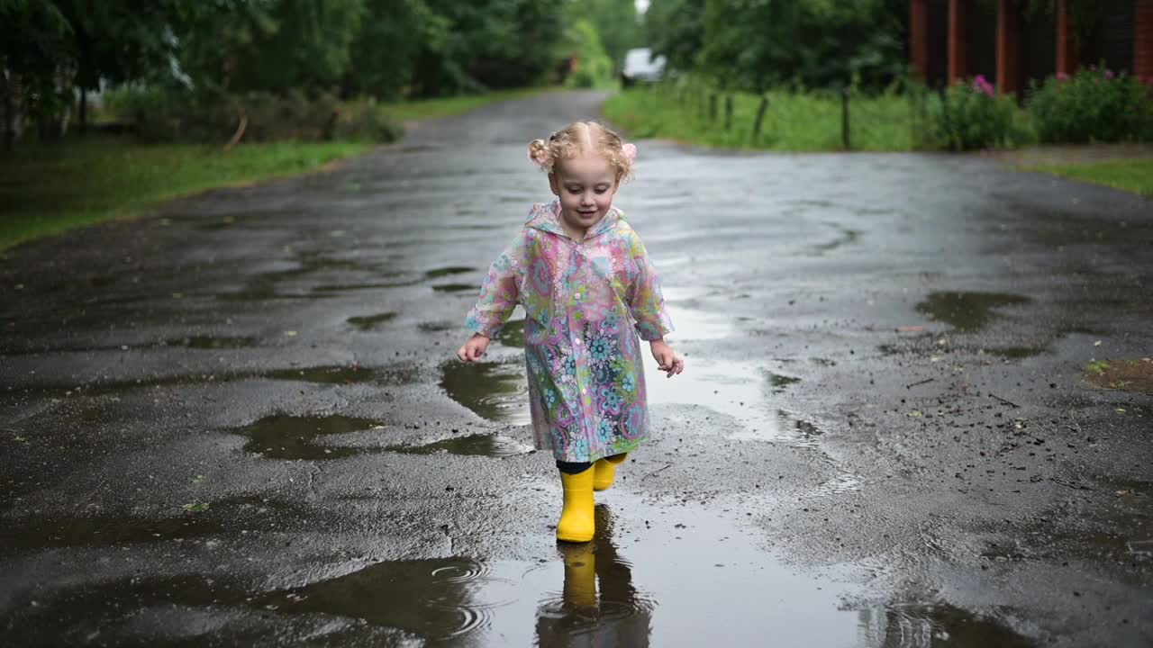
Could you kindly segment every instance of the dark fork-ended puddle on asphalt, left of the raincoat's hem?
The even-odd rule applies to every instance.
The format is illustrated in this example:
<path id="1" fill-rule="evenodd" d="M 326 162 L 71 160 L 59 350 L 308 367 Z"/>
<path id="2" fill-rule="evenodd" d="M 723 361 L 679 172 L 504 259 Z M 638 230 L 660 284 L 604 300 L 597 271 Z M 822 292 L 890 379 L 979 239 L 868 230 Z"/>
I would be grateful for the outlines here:
<path id="1" fill-rule="evenodd" d="M 317 443 L 322 437 L 346 435 L 380 428 L 377 421 L 351 416 L 288 416 L 276 414 L 236 428 L 236 434 L 250 437 L 246 452 L 263 454 L 269 459 L 339 459 L 363 452 L 379 452 L 378 447 L 355 447 Z"/>

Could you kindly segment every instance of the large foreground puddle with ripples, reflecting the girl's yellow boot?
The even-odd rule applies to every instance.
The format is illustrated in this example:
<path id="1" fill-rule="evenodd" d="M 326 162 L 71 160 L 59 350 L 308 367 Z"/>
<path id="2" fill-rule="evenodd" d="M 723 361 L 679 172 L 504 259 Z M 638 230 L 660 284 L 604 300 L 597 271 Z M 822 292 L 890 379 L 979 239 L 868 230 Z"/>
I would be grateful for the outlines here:
<path id="1" fill-rule="evenodd" d="M 621 491 L 595 515 L 593 542 L 557 544 L 535 560 L 344 562 L 344 573 L 271 592 L 231 574 L 145 574 L 39 594 L 13 610 L 40 645 L 93 630 L 111 645 L 186 633 L 197 645 L 246 645 L 254 624 L 286 645 L 762 646 L 767 628 L 774 645 L 817 648 L 1033 645 L 949 605 L 854 606 L 846 600 L 859 592 L 836 580 L 845 570 L 787 566 L 754 529 L 703 505 Z"/>

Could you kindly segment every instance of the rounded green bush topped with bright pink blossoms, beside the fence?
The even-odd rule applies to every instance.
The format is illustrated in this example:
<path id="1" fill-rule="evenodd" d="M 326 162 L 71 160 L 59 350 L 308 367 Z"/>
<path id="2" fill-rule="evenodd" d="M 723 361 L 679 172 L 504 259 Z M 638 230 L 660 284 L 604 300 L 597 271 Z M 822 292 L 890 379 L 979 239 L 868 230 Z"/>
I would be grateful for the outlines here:
<path id="1" fill-rule="evenodd" d="M 1011 97 L 998 97 L 984 76 L 945 90 L 932 110 L 934 135 L 954 151 L 989 146 L 1009 146 L 1019 140 L 1013 123 L 1017 104 Z"/>

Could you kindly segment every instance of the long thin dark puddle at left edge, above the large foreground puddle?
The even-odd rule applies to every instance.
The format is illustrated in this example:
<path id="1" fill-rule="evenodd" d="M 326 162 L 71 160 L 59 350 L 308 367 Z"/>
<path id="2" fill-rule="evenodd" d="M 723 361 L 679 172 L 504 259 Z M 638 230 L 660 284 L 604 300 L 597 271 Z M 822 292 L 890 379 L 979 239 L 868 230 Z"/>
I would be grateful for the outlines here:
<path id="1" fill-rule="evenodd" d="M 0 545 L 15 549 L 51 547 L 106 547 L 112 544 L 168 542 L 178 537 L 211 535 L 224 530 L 218 520 L 184 514 L 176 518 L 37 518 L 6 519 Z"/>

